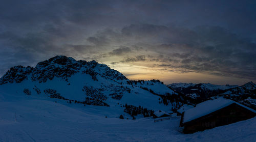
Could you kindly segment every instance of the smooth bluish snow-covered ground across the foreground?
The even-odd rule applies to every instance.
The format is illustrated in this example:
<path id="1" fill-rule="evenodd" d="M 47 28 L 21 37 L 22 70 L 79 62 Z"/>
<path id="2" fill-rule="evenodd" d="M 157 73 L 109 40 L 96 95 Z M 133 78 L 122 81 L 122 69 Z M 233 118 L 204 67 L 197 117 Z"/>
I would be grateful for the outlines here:
<path id="1" fill-rule="evenodd" d="M 106 106 L 61 104 L 47 99 L 7 99 L 0 94 L 0 141 L 255 141 L 256 118 L 183 134 L 180 118 L 105 118 Z M 13 97 L 13 96 L 12 96 Z M 15 121 L 16 113 L 16 121 Z M 111 114 L 110 109 L 104 113 Z"/>

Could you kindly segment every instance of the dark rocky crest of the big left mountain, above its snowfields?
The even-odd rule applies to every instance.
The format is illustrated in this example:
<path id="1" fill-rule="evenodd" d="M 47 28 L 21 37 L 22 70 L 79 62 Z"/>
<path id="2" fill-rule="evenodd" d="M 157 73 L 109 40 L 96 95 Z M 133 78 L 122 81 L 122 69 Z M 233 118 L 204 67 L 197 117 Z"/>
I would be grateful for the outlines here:
<path id="1" fill-rule="evenodd" d="M 46 82 L 55 77 L 68 81 L 68 78 L 76 73 L 86 73 L 97 80 L 97 75 L 104 76 L 113 80 L 127 80 L 120 72 L 99 64 L 96 61 L 76 61 L 75 59 L 63 55 L 57 55 L 49 60 L 39 62 L 35 68 L 15 66 L 12 67 L 0 79 L 0 84 L 19 83 L 25 79 L 32 81 Z"/>

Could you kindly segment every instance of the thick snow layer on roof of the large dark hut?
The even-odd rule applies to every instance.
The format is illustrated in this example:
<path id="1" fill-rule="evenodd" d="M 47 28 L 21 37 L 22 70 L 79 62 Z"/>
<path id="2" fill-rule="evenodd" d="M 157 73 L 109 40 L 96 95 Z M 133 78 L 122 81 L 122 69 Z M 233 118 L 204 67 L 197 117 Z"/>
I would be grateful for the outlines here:
<path id="1" fill-rule="evenodd" d="M 224 98 L 219 98 L 219 99 L 215 99 L 215 100 L 204 101 L 202 103 L 197 104 L 196 107 L 186 110 L 184 113 L 183 122 L 186 123 L 186 122 L 195 120 L 197 118 L 203 117 L 205 115 L 208 115 L 211 112 L 217 111 L 217 110 L 224 108 L 232 103 L 236 103 L 236 104 L 256 113 L 256 110 L 251 109 L 247 106 L 244 106 L 238 102 L 224 99 Z"/>

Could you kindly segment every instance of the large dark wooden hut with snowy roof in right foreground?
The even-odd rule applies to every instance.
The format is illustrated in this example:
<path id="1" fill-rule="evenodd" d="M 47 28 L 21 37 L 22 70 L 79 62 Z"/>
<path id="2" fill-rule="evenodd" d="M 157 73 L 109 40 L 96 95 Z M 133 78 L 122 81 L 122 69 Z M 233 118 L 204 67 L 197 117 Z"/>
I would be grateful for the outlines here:
<path id="1" fill-rule="evenodd" d="M 256 110 L 232 100 L 219 98 L 199 103 L 183 112 L 180 126 L 184 126 L 184 133 L 194 133 L 255 116 Z"/>

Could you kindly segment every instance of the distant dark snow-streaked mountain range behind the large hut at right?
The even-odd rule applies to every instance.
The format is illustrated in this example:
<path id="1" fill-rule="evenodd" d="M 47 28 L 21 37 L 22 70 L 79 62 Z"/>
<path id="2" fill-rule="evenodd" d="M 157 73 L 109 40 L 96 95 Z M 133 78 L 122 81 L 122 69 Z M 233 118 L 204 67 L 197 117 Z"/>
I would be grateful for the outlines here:
<path id="1" fill-rule="evenodd" d="M 168 87 L 192 99 L 194 103 L 212 97 L 225 97 L 256 109 L 256 84 L 248 82 L 243 86 L 219 86 L 210 83 L 172 83 Z"/>

